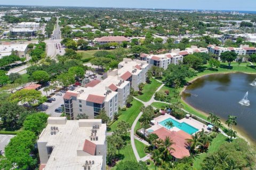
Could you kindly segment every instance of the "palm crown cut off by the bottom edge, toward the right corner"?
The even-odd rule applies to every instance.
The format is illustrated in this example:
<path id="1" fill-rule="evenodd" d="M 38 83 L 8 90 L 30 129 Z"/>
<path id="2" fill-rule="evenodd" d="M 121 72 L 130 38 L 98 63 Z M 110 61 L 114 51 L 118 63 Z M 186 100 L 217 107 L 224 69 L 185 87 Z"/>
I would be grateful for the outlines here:
<path id="1" fill-rule="evenodd" d="M 217 154 L 212 154 L 204 159 L 202 170 L 236 170 L 241 169 L 235 159 L 231 158 L 226 152 L 220 151 Z"/>

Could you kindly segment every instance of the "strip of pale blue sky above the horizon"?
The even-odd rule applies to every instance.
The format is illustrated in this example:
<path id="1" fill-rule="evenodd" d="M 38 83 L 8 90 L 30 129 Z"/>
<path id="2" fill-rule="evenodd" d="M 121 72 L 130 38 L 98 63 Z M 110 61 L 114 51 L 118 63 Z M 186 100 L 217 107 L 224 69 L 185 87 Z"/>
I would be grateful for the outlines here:
<path id="1" fill-rule="evenodd" d="M 9 0 L 0 4 L 256 11 L 256 0 Z"/>

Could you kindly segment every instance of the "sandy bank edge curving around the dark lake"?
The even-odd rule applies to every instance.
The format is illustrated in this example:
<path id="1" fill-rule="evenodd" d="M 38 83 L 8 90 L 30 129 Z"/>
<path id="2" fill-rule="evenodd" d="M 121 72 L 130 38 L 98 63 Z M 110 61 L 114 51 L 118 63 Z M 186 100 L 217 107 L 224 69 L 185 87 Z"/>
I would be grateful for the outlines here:
<path id="1" fill-rule="evenodd" d="M 229 73 L 245 73 L 245 74 L 256 74 L 256 73 L 247 73 L 247 72 L 240 72 L 240 71 L 232 71 L 232 72 L 221 72 L 221 73 L 208 73 L 208 74 L 204 74 L 204 75 L 200 75 L 190 81 L 188 81 L 189 83 L 193 83 L 194 81 L 196 81 L 197 79 L 199 78 L 202 78 L 202 77 L 205 77 L 207 75 L 214 75 L 214 74 L 229 74 Z M 188 85 L 189 86 L 189 85 Z M 186 90 L 187 86 L 184 86 L 182 88 L 182 90 L 180 91 L 180 94 L 182 94 L 185 90 Z M 190 105 L 185 99 L 183 99 L 183 97 L 181 98 L 182 101 L 190 108 L 194 109 L 196 112 L 198 112 L 199 114 L 203 115 L 203 116 L 206 116 L 208 117 L 209 114 L 201 111 L 200 109 L 196 108 L 196 107 L 193 107 L 192 105 Z M 225 124 L 225 120 L 224 118 L 221 118 L 221 123 L 223 124 L 223 126 L 225 126 L 225 128 L 228 128 L 228 126 Z M 239 138 L 242 138 L 244 139 L 245 141 L 247 141 L 247 143 L 249 143 L 249 145 L 251 146 L 256 146 L 256 141 L 253 140 L 252 138 L 249 137 L 249 134 L 246 134 L 246 131 L 245 130 L 241 130 L 239 129 L 241 127 L 237 126 L 237 127 L 234 127 L 233 129 L 235 131 L 237 131 L 237 136 Z"/>

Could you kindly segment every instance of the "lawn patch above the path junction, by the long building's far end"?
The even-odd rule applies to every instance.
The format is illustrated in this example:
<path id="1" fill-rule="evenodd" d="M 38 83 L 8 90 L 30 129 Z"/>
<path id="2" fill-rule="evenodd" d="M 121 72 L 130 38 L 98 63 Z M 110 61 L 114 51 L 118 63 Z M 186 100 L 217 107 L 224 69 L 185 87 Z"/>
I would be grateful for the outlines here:
<path id="1" fill-rule="evenodd" d="M 157 88 L 161 86 L 161 83 L 153 78 L 151 78 L 150 81 L 150 84 L 145 84 L 142 90 L 142 95 L 136 96 L 138 99 L 142 101 L 149 101 L 156 92 Z"/>

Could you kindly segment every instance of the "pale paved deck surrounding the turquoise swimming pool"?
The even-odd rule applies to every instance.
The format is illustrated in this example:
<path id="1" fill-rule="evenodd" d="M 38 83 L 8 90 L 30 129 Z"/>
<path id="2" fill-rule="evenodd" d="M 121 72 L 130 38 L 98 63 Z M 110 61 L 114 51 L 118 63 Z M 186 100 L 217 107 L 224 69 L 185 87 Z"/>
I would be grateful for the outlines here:
<path id="1" fill-rule="evenodd" d="M 154 120 L 156 121 L 155 125 L 152 125 L 150 128 L 148 128 L 146 130 L 156 131 L 157 129 L 164 127 L 161 124 L 159 124 L 159 122 L 162 122 L 162 121 L 166 120 L 167 118 L 172 118 L 173 120 L 175 120 L 179 123 L 185 122 L 185 123 L 189 124 L 190 126 L 193 126 L 194 128 L 198 129 L 198 131 L 201 131 L 202 129 L 204 129 L 204 131 L 210 132 L 207 129 L 207 125 L 205 125 L 197 120 L 194 120 L 194 118 L 191 118 L 191 117 L 186 118 L 185 117 L 185 118 L 182 118 L 181 120 L 178 120 L 177 118 L 175 118 L 169 114 L 161 115 L 161 116 L 154 118 Z M 170 131 L 180 131 L 180 129 L 174 126 Z"/>

